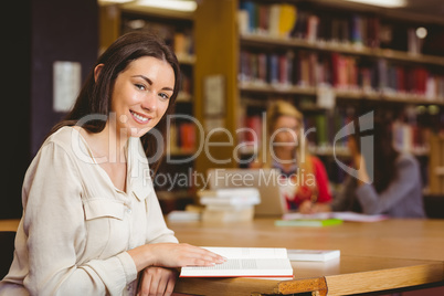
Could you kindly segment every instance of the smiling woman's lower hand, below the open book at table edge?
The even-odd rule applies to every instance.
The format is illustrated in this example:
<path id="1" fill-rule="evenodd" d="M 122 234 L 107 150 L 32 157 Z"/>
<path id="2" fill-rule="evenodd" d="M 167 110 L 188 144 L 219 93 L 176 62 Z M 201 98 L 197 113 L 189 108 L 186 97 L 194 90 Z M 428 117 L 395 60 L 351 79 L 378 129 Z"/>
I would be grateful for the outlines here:
<path id="1" fill-rule="evenodd" d="M 140 274 L 137 296 L 172 294 L 177 271 L 163 267 L 147 267 Z"/>

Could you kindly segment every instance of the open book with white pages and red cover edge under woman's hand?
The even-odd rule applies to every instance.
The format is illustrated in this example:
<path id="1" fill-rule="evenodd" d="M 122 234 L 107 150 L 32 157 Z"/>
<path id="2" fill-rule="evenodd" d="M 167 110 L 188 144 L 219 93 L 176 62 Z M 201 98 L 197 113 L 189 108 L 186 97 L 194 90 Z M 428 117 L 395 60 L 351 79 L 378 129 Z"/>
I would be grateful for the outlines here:
<path id="1" fill-rule="evenodd" d="M 293 277 L 286 249 L 204 247 L 228 258 L 215 266 L 182 267 L 181 277 Z"/>

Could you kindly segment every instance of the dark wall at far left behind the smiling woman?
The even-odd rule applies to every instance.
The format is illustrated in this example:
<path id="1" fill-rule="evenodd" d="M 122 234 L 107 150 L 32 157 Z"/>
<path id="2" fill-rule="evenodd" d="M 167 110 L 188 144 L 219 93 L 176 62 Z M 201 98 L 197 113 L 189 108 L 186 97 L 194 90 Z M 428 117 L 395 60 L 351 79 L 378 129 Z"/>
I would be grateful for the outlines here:
<path id="1" fill-rule="evenodd" d="M 83 80 L 97 57 L 98 35 L 95 0 L 7 1 L 2 6 L 10 15 L 2 18 L 7 176 L 1 178 L 6 191 L 0 198 L 0 218 L 6 219 L 21 216 L 24 172 L 51 127 L 64 115 L 53 110 L 53 63 L 81 63 Z"/>

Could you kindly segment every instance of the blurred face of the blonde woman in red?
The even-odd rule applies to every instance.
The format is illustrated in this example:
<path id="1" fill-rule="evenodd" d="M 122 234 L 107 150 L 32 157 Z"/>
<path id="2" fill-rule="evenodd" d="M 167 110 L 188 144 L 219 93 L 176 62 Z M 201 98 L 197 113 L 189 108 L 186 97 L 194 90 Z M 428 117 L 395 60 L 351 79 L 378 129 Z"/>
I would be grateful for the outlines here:
<path id="1" fill-rule="evenodd" d="M 274 126 L 274 137 L 272 136 L 275 148 L 293 150 L 298 145 L 299 123 L 292 116 L 279 116 Z"/>

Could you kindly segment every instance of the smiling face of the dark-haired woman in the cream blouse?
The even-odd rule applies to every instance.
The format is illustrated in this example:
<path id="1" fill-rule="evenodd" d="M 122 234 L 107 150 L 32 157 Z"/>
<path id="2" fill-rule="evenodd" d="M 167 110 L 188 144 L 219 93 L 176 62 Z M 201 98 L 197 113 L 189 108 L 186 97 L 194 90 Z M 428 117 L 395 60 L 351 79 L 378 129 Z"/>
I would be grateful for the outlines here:
<path id="1" fill-rule="evenodd" d="M 118 134 L 141 137 L 166 113 L 175 89 L 175 71 L 162 60 L 139 57 L 120 72 L 112 94 Z"/>

